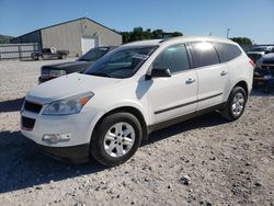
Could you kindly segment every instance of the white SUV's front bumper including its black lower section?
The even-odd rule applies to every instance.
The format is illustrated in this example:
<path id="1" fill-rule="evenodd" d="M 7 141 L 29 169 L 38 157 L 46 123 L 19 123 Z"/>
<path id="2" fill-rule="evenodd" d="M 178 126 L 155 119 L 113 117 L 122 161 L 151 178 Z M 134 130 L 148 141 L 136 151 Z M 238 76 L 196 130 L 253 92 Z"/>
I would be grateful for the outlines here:
<path id="1" fill-rule="evenodd" d="M 44 108 L 45 110 L 45 108 Z M 43 111 L 41 113 L 43 113 Z M 28 111 L 21 113 L 21 134 L 30 139 L 42 152 L 54 159 L 76 163 L 89 160 L 90 138 L 96 112 L 82 112 L 66 116 L 47 116 Z M 23 127 L 22 119 L 33 119 L 33 128 Z M 30 124 L 28 124 L 30 125 Z M 55 144 L 43 140 L 47 134 L 69 134 L 70 139 Z"/>

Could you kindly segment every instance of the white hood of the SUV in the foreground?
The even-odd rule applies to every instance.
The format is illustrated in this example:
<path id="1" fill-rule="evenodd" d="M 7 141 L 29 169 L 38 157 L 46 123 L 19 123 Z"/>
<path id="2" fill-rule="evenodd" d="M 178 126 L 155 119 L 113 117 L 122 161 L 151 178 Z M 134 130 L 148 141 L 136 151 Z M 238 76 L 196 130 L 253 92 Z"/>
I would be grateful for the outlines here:
<path id="1" fill-rule="evenodd" d="M 113 87 L 121 82 L 121 79 L 71 73 L 47 81 L 32 89 L 26 100 L 41 104 L 73 96 L 85 92 L 96 92 L 96 90 Z"/>

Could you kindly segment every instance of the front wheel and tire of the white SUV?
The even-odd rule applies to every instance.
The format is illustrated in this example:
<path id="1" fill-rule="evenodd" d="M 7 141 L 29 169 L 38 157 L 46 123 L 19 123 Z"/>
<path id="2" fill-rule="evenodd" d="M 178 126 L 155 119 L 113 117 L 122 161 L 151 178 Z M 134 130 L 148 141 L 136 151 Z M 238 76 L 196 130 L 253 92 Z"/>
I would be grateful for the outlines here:
<path id="1" fill-rule="evenodd" d="M 95 127 L 90 152 L 104 165 L 118 165 L 133 157 L 140 146 L 141 138 L 141 125 L 133 114 L 114 113 L 103 118 Z"/>

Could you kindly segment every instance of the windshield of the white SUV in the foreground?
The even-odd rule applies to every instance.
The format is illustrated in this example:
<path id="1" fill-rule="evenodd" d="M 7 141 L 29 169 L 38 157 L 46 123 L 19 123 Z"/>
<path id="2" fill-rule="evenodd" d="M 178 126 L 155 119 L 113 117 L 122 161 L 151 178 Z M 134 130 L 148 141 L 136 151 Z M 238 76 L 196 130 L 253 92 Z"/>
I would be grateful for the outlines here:
<path id="1" fill-rule="evenodd" d="M 156 46 L 116 48 L 88 68 L 85 73 L 109 78 L 129 78 L 147 60 L 155 48 Z"/>

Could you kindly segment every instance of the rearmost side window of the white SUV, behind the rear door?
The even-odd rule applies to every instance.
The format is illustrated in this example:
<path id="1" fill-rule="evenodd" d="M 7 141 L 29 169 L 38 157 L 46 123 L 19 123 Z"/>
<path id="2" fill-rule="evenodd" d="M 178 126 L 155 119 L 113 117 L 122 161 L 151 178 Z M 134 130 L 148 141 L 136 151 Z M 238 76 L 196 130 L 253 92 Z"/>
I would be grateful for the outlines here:
<path id="1" fill-rule="evenodd" d="M 220 62 L 227 62 L 241 55 L 241 50 L 236 45 L 224 44 L 224 43 L 213 43 L 213 44 L 216 50 L 218 52 Z"/>

